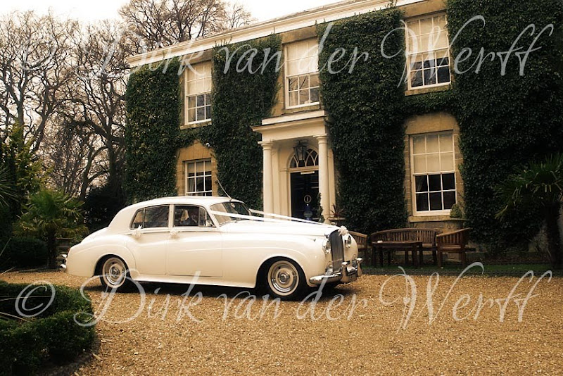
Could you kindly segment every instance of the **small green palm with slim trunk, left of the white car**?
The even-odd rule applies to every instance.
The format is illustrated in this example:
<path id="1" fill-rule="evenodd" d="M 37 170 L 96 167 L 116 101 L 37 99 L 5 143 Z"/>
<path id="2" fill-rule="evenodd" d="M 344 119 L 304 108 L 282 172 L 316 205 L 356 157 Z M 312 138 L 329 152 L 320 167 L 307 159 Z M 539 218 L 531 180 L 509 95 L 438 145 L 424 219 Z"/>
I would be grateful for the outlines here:
<path id="1" fill-rule="evenodd" d="M 75 237 L 87 232 L 80 206 L 80 201 L 62 192 L 42 189 L 30 196 L 15 231 L 45 239 L 49 268 L 56 268 L 56 238 Z"/>

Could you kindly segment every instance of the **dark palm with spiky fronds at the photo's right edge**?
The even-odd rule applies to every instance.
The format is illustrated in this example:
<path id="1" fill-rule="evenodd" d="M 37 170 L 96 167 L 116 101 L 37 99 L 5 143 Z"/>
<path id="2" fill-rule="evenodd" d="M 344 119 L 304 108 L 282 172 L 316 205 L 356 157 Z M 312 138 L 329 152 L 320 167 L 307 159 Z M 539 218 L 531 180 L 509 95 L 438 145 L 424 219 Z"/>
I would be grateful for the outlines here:
<path id="1" fill-rule="evenodd" d="M 497 189 L 504 207 L 497 213 L 506 219 L 515 209 L 539 209 L 545 220 L 548 252 L 552 267 L 562 267 L 559 218 L 563 204 L 563 154 L 557 153 L 545 161 L 531 163 L 517 171 Z"/>

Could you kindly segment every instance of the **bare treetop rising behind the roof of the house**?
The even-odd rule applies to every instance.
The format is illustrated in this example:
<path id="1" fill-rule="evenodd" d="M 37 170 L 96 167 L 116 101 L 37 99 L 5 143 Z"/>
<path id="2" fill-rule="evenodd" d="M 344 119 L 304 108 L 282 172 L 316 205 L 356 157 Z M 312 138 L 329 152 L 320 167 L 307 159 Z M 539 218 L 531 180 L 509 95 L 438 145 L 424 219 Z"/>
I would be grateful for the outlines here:
<path id="1" fill-rule="evenodd" d="M 122 6 L 120 15 L 137 37 L 136 53 L 205 37 L 251 21 L 243 6 L 224 0 L 130 0 Z"/>

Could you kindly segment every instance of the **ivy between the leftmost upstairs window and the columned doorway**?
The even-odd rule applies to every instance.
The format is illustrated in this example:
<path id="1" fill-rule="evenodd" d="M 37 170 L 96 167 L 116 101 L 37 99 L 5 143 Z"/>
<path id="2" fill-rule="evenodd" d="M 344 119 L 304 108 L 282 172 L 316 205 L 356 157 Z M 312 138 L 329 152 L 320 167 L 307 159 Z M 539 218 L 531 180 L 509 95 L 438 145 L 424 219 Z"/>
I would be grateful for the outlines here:
<path id="1" fill-rule="evenodd" d="M 251 49 L 255 49 L 254 55 Z M 202 129 L 201 138 L 215 152 L 218 178 L 227 193 L 255 208 L 262 206 L 262 148 L 260 134 L 251 126 L 271 115 L 279 89 L 276 61 L 262 68 L 260 64 L 267 51 L 271 57 L 280 49 L 281 39 L 274 35 L 217 46 L 213 51 L 213 122 Z M 249 56 L 253 58 L 249 60 Z M 230 65 L 226 65 L 229 58 Z M 253 72 L 260 71 L 237 71 L 237 66 L 247 63 Z"/>

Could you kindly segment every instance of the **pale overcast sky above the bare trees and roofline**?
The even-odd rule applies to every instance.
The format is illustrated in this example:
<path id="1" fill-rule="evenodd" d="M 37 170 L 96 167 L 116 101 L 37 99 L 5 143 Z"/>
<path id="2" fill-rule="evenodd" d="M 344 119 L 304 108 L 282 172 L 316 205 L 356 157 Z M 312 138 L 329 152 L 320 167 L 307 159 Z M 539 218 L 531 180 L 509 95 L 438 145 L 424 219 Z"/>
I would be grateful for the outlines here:
<path id="1" fill-rule="evenodd" d="M 340 0 L 239 0 L 239 3 L 246 5 L 255 18 L 263 21 L 337 1 Z M 102 20 L 116 18 L 118 9 L 127 3 L 127 0 L 15 0 L 10 2 L 11 4 L 8 6 L 2 6 L 1 13 L 28 9 L 43 13 L 51 8 L 56 14 L 80 20 Z"/>

